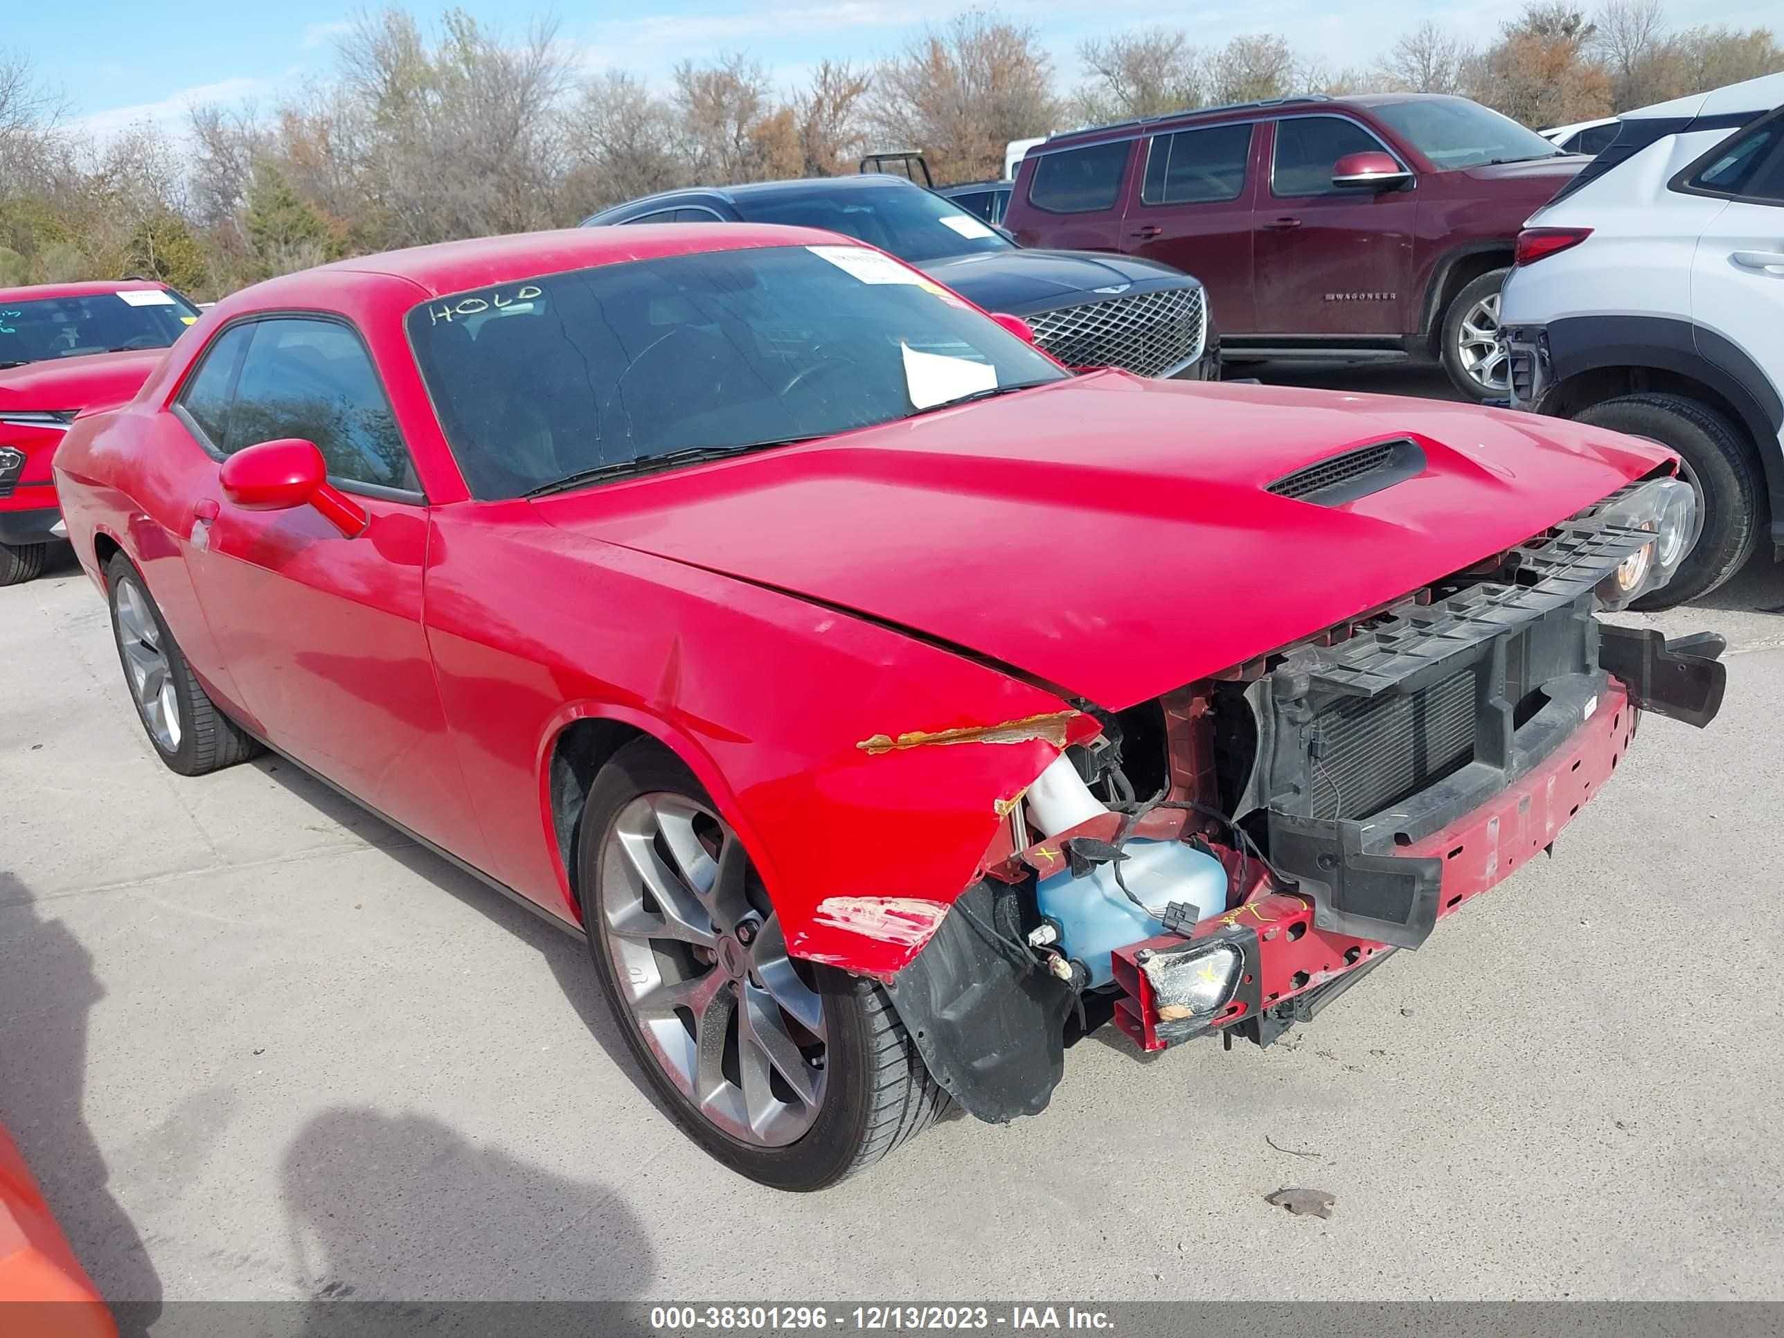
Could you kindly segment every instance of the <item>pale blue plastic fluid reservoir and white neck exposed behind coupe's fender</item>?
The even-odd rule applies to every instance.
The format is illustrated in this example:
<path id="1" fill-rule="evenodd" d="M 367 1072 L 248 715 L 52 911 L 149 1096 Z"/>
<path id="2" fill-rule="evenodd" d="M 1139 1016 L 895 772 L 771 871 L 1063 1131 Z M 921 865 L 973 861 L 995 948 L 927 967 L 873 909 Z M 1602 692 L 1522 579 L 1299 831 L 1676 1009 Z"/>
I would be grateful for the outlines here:
<path id="1" fill-rule="evenodd" d="M 1029 821 L 1047 837 L 1106 812 L 1063 755 L 1028 792 Z M 1185 901 L 1206 921 L 1226 910 L 1226 867 L 1211 855 L 1177 840 L 1129 840 L 1126 853 L 1122 880 L 1149 912 L 1163 915 L 1172 901 Z M 1085 878 L 1061 869 L 1040 881 L 1035 897 L 1040 913 L 1060 926 L 1060 951 L 1085 963 L 1092 987 L 1113 979 L 1110 954 L 1117 947 L 1165 933 L 1156 915 L 1140 910 L 1120 890 L 1111 863 Z"/>

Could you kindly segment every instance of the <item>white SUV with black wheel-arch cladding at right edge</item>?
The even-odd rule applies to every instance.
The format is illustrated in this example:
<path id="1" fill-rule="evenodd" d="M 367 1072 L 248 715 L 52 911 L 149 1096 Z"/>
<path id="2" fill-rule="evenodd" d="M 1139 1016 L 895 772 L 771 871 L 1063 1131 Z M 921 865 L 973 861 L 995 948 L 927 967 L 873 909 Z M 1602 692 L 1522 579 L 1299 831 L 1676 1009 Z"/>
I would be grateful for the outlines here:
<path id="1" fill-rule="evenodd" d="M 1623 112 L 1531 216 L 1500 296 L 1511 401 L 1675 450 L 1704 507 L 1664 608 L 1784 557 L 1784 73 Z"/>

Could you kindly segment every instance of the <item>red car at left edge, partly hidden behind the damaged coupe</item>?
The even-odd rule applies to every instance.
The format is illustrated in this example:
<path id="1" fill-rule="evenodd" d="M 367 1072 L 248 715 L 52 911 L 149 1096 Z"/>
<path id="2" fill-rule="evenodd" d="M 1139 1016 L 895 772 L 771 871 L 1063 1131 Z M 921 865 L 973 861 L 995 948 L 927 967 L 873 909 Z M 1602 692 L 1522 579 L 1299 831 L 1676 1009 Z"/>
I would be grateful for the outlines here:
<path id="1" fill-rule="evenodd" d="M 62 537 L 50 457 L 75 414 L 137 392 L 198 310 L 161 284 L 0 289 L 0 585 Z"/>

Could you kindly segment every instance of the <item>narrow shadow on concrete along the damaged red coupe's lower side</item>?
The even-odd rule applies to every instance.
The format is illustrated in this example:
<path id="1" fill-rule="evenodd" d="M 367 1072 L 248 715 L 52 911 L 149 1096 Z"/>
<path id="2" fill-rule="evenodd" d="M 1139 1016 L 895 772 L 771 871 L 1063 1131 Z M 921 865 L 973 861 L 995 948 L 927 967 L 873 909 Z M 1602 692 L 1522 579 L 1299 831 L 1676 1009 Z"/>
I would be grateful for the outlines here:
<path id="1" fill-rule="evenodd" d="M 466 906 L 478 910 L 539 953 L 539 956 L 542 956 L 546 965 L 551 969 L 551 974 L 557 976 L 558 988 L 562 988 L 564 997 L 569 999 L 571 1008 L 576 1010 L 582 1024 L 594 1037 L 596 1044 L 607 1053 L 607 1058 L 615 1069 L 626 1074 L 632 1085 L 660 1115 L 669 1117 L 669 1108 L 662 1103 L 644 1072 L 639 1069 L 624 1035 L 619 1031 L 619 1020 L 614 1017 L 614 1010 L 608 1006 L 607 995 L 601 994 L 601 983 L 596 979 L 594 963 L 589 962 L 589 947 L 580 935 L 558 929 L 555 924 L 546 922 L 524 906 L 516 904 L 480 878 L 467 874 L 451 860 L 435 855 L 426 846 L 412 842 L 405 833 L 316 780 L 294 762 L 289 762 L 277 753 L 266 753 L 255 758 L 250 765 L 257 767 L 262 774 L 271 776 L 280 787 L 307 803 L 323 817 L 359 831 L 387 860 L 401 865 L 419 878 L 425 878 L 441 892 L 457 897 Z M 368 831 L 371 826 L 378 828 L 378 831 Z"/>

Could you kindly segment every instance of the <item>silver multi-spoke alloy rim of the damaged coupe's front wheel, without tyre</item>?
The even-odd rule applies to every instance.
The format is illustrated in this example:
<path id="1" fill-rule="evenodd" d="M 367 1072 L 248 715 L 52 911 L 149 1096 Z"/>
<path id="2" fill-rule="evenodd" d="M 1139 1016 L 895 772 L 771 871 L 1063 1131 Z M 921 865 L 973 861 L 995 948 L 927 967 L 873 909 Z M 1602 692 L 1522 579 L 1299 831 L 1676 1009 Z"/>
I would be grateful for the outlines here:
<path id="1" fill-rule="evenodd" d="M 642 794 L 599 867 L 614 978 L 664 1074 L 730 1138 L 799 1140 L 824 1104 L 824 999 L 787 956 L 737 833 L 687 796 Z"/>

